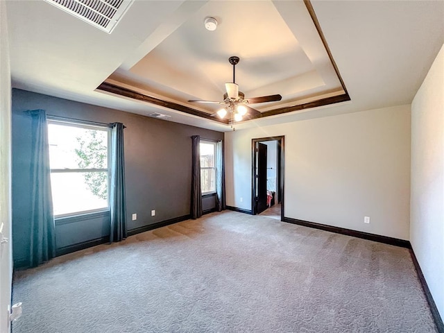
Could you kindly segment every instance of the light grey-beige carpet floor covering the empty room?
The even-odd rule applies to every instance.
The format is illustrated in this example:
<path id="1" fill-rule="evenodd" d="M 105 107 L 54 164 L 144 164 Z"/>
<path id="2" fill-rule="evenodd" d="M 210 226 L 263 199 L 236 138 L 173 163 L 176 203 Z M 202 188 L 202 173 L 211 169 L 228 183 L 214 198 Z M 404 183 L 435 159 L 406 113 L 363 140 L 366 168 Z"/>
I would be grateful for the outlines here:
<path id="1" fill-rule="evenodd" d="M 15 272 L 13 333 L 437 332 L 406 248 L 225 211 Z"/>

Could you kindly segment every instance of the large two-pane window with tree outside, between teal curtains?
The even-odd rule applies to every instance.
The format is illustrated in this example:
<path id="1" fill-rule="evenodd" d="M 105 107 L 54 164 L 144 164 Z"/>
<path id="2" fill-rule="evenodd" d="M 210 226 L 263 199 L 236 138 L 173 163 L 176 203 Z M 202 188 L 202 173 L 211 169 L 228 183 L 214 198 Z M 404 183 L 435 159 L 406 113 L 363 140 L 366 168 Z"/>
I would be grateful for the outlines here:
<path id="1" fill-rule="evenodd" d="M 110 128 L 48 122 L 54 216 L 108 209 Z"/>

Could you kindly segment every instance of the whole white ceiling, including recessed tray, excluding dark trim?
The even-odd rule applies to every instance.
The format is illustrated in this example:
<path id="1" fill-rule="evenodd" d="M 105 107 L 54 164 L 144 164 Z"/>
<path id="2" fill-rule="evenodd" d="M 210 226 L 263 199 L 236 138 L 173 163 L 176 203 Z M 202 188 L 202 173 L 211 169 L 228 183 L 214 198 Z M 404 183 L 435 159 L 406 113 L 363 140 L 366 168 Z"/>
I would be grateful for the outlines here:
<path id="1" fill-rule="evenodd" d="M 311 4 L 351 101 L 237 128 L 411 103 L 444 42 L 444 1 Z M 7 10 L 12 85 L 20 89 L 214 130 L 230 126 L 95 89 L 110 78 L 184 105 L 219 101 L 232 79 L 228 57 L 239 56 L 236 80 L 247 97 L 282 94 L 258 110 L 341 90 L 302 1 L 136 0 L 110 35 L 41 0 L 7 0 Z M 216 31 L 203 27 L 207 16 L 218 19 Z"/>

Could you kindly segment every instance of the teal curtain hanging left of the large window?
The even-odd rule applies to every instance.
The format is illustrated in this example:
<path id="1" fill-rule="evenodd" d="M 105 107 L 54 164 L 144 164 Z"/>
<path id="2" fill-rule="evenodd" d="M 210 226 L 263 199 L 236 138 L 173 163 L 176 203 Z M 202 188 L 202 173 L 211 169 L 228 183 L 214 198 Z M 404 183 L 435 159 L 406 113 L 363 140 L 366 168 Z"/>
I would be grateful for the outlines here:
<path id="1" fill-rule="evenodd" d="M 31 237 L 29 266 L 35 267 L 56 257 L 56 226 L 51 194 L 48 123 L 44 110 L 31 115 Z"/>

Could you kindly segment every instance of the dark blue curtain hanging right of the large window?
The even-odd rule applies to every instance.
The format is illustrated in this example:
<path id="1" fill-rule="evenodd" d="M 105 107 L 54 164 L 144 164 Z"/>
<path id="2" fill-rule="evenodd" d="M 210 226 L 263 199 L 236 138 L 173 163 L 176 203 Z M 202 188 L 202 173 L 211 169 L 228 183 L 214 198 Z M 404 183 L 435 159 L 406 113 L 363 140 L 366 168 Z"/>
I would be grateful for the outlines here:
<path id="1" fill-rule="evenodd" d="M 125 158 L 123 123 L 112 123 L 110 158 L 110 242 L 126 239 Z"/>

